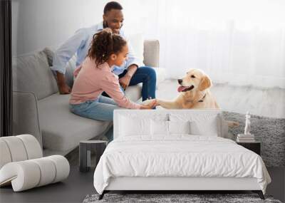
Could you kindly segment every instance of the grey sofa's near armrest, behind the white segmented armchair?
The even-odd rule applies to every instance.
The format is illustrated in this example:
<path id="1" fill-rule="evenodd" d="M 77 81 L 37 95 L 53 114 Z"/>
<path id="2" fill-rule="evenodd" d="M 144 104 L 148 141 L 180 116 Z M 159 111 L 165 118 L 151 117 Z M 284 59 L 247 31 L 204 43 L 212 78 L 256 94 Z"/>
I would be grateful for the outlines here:
<path id="1" fill-rule="evenodd" d="M 40 143 L 41 128 L 38 120 L 38 100 L 31 92 L 13 92 L 13 135 L 31 134 Z"/>

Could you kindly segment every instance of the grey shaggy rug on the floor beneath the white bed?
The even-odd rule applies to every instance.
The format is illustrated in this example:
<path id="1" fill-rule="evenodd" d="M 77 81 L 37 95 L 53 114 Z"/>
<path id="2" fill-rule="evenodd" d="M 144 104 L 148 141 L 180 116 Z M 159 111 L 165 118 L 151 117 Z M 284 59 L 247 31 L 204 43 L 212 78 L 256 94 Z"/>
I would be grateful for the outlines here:
<path id="1" fill-rule="evenodd" d="M 281 203 L 279 200 L 272 197 L 266 197 L 265 200 L 259 198 L 257 194 L 105 194 L 104 198 L 98 200 L 99 194 L 87 195 L 83 203 L 95 202 L 193 202 L 193 203 L 206 203 L 206 202 L 232 202 L 232 203 L 245 203 L 245 202 L 270 202 Z"/>

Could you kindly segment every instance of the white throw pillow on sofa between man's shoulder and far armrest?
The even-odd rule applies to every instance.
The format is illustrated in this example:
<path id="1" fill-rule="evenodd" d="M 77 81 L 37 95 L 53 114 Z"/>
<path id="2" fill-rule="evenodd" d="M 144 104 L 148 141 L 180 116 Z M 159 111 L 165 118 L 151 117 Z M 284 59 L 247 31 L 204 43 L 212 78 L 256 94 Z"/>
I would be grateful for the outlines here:
<path id="1" fill-rule="evenodd" d="M 128 36 L 128 42 L 129 46 L 133 48 L 133 52 L 135 53 L 135 56 L 140 59 L 140 66 L 144 66 L 143 64 L 143 51 L 144 51 L 144 38 L 142 36 L 142 33 L 137 33 Z"/>

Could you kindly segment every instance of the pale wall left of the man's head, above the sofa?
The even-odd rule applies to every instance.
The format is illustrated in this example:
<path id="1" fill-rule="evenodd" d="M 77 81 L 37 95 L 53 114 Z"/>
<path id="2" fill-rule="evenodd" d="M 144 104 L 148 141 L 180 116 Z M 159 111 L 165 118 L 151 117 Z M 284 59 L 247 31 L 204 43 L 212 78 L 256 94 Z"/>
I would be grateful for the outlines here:
<path id="1" fill-rule="evenodd" d="M 12 0 L 13 55 L 58 46 L 102 21 L 105 0 Z"/>

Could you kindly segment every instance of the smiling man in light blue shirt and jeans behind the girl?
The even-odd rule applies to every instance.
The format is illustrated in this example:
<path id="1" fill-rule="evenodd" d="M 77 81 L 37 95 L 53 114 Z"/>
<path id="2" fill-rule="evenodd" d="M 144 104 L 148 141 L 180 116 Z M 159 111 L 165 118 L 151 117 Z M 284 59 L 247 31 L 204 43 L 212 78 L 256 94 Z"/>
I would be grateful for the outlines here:
<path id="1" fill-rule="evenodd" d="M 71 57 L 77 53 L 76 66 L 86 58 L 90 42 L 93 35 L 102 31 L 103 28 L 112 29 L 113 33 L 118 33 L 125 38 L 123 33 L 123 7 L 115 1 L 111 1 L 104 7 L 103 22 L 90 28 L 81 28 L 69 38 L 55 53 L 53 58 L 52 70 L 56 71 L 56 77 L 58 80 L 58 90 L 61 94 L 71 93 L 71 88 L 65 82 L 64 73 L 66 72 L 66 63 Z M 128 39 L 127 39 L 128 41 Z M 147 98 L 155 98 L 155 85 L 156 75 L 155 71 L 147 66 L 141 66 L 138 58 L 135 57 L 133 49 L 128 43 L 129 53 L 128 59 L 122 66 L 115 66 L 113 73 L 119 76 L 119 82 L 122 88 L 125 90 L 128 85 L 137 85 L 142 83 L 142 100 Z"/>

